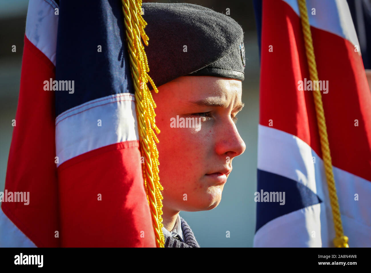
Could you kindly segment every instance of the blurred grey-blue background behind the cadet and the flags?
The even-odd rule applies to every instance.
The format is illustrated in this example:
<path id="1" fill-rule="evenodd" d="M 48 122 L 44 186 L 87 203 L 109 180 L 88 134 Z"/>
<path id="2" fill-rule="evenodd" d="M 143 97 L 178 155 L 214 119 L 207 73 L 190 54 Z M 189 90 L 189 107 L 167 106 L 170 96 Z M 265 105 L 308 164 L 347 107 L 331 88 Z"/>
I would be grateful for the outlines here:
<path id="1" fill-rule="evenodd" d="M 23 38 L 28 0 L 0 0 L 0 191 L 4 190 L 22 67 Z M 198 4 L 230 17 L 244 30 L 246 54 L 242 101 L 237 128 L 245 152 L 233 160 L 233 171 L 224 186 L 218 207 L 180 215 L 192 228 L 201 247 L 252 247 L 255 233 L 257 125 L 259 123 L 259 49 L 252 0 L 143 1 Z M 16 52 L 12 46 L 16 45 Z M 24 136 L 27 137 L 27 136 Z M 226 237 L 230 231 L 230 238 Z"/>

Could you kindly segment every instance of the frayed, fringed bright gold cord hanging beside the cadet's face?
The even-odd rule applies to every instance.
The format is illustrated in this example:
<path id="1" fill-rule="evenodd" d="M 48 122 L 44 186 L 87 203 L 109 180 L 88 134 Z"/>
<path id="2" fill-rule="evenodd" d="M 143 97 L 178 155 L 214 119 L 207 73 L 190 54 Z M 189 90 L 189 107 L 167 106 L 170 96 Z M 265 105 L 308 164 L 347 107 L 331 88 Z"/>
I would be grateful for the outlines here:
<path id="1" fill-rule="evenodd" d="M 144 188 L 147 194 L 147 201 L 150 205 L 152 224 L 156 237 L 156 246 L 164 247 L 165 238 L 162 233 L 162 194 L 163 190 L 160 177 L 158 175 L 158 150 L 156 143 L 158 139 L 156 133 L 160 133 L 155 123 L 156 104 L 152 94 L 147 87 L 150 81 L 154 91 L 157 93 L 157 87 L 147 74 L 150 71 L 148 67 L 147 56 L 142 45 L 141 37 L 148 45 L 148 36 L 144 32 L 147 22 L 144 21 L 141 10 L 141 0 L 121 0 L 122 11 L 125 17 L 125 33 L 128 43 L 129 61 L 131 66 L 131 75 L 135 89 L 135 108 L 137 110 L 139 143 L 141 155 L 144 156 L 144 165 L 142 165 Z"/>

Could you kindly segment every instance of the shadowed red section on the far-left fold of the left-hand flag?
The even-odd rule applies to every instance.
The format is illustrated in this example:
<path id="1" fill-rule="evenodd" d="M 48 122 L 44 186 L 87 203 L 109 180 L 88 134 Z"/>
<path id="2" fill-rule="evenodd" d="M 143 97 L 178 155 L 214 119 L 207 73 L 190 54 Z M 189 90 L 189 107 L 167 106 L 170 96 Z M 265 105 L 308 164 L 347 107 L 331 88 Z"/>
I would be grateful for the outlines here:
<path id="1" fill-rule="evenodd" d="M 29 192 L 29 205 L 3 202 L 4 214 L 38 247 L 58 247 L 55 164 L 55 98 L 44 91 L 55 67 L 25 36 L 16 126 L 10 145 L 5 189 Z M 10 121 L 9 121 L 10 122 Z"/>

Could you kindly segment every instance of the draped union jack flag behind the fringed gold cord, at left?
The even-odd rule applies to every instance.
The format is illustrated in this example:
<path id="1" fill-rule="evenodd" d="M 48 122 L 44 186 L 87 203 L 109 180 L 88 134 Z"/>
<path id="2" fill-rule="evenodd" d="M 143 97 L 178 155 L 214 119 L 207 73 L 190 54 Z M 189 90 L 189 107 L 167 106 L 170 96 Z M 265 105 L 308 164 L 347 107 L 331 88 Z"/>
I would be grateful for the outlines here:
<path id="1" fill-rule="evenodd" d="M 121 1 L 30 0 L 15 120 L 1 247 L 156 246 Z"/>

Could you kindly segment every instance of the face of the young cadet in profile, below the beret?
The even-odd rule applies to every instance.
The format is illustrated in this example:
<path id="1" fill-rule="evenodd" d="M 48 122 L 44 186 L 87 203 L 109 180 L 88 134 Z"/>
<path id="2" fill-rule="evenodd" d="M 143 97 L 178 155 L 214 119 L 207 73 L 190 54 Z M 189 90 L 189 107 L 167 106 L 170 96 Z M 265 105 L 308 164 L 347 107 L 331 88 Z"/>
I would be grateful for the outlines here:
<path id="1" fill-rule="evenodd" d="M 152 91 L 161 130 L 157 148 L 164 211 L 202 211 L 219 204 L 232 159 L 246 149 L 234 123 L 243 107 L 241 84 L 236 79 L 185 76 L 161 85 L 157 94 Z M 171 127 L 177 116 L 201 123 Z"/>

